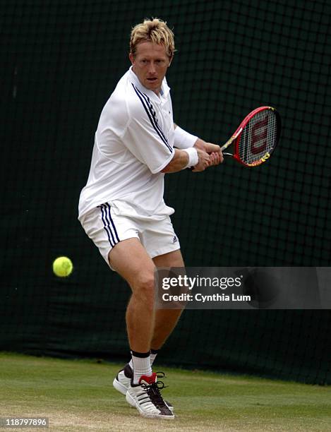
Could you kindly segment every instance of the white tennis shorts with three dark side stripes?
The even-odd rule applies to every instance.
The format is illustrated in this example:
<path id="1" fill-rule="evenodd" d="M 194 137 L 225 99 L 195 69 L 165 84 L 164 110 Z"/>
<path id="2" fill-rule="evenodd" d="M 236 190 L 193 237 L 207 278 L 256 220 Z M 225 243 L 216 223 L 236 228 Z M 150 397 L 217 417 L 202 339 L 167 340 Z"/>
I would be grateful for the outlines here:
<path id="1" fill-rule="evenodd" d="M 116 214 L 109 203 L 104 203 L 86 213 L 80 223 L 108 265 L 112 248 L 119 241 L 133 237 L 140 240 L 150 258 L 181 247 L 169 216 L 162 220 L 124 216 Z"/>

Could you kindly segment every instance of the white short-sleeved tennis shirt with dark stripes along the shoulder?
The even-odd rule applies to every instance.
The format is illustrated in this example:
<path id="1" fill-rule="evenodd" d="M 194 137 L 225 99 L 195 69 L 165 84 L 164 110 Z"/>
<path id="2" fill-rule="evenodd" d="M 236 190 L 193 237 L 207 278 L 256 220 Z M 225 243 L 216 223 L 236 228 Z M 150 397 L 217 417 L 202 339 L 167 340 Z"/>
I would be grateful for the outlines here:
<path id="1" fill-rule="evenodd" d="M 164 203 L 160 171 L 174 157 L 173 147 L 167 80 L 157 96 L 140 84 L 131 66 L 102 109 L 78 219 L 106 202 L 121 215 L 154 220 L 171 215 L 174 209 Z"/>

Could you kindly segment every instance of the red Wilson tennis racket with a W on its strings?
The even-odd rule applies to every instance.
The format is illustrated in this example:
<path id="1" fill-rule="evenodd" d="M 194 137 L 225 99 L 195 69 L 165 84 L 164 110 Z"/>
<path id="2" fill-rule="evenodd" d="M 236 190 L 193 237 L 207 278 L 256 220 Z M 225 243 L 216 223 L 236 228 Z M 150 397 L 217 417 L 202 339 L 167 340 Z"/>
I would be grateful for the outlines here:
<path id="1" fill-rule="evenodd" d="M 245 167 L 257 167 L 275 151 L 281 128 L 280 116 L 275 108 L 256 108 L 241 121 L 236 132 L 221 147 L 223 152 L 233 143 L 234 152 L 223 152 L 223 155 L 234 157 Z"/>

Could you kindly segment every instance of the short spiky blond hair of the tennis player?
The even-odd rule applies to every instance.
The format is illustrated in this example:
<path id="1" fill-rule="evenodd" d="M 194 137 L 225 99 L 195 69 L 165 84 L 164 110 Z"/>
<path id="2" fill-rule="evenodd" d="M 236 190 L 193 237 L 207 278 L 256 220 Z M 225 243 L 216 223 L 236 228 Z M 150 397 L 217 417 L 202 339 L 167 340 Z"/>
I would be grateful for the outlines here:
<path id="1" fill-rule="evenodd" d="M 163 44 L 167 56 L 171 58 L 174 55 L 175 44 L 174 44 L 174 33 L 171 32 L 167 26 L 167 22 L 160 20 L 159 18 L 147 18 L 143 23 L 137 24 L 131 31 L 130 39 L 130 53 L 136 56 L 137 45 L 139 42 L 150 41 L 154 44 Z"/>

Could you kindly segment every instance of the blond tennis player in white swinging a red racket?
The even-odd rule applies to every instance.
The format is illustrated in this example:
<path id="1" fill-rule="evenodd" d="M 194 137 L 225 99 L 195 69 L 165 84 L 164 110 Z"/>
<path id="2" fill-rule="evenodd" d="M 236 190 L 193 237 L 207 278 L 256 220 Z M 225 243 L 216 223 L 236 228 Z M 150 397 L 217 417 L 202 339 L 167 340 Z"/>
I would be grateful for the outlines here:
<path id="1" fill-rule="evenodd" d="M 169 217 L 174 209 L 163 199 L 164 174 L 188 167 L 203 172 L 223 160 L 218 145 L 174 124 L 165 78 L 174 51 L 174 35 L 162 20 L 133 28 L 132 66 L 102 110 L 78 217 L 132 290 L 126 309 L 131 361 L 114 387 L 141 415 L 162 419 L 173 419 L 174 412 L 162 398 L 163 383 L 152 364 L 181 311 L 155 311 L 154 270 L 184 265 Z"/>

